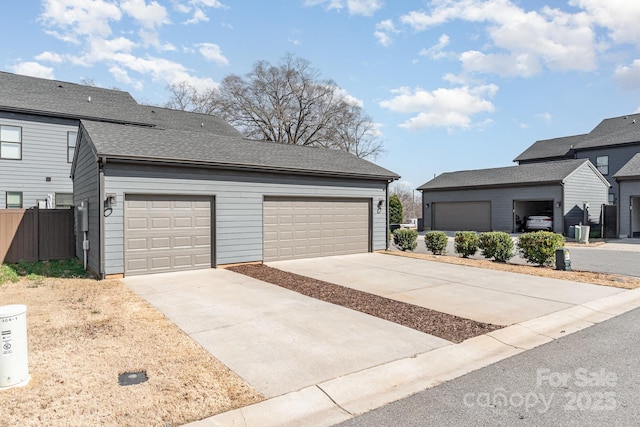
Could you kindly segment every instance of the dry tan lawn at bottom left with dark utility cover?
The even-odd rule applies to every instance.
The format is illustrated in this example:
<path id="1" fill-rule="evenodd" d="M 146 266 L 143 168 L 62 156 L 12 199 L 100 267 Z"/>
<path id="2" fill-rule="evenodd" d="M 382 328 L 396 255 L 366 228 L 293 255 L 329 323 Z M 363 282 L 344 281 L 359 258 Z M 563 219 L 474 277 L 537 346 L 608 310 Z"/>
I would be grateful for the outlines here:
<path id="1" fill-rule="evenodd" d="M 0 301 L 27 305 L 32 376 L 0 390 L 0 425 L 166 427 L 263 399 L 116 280 L 22 279 Z M 149 379 L 118 385 L 129 371 Z"/>

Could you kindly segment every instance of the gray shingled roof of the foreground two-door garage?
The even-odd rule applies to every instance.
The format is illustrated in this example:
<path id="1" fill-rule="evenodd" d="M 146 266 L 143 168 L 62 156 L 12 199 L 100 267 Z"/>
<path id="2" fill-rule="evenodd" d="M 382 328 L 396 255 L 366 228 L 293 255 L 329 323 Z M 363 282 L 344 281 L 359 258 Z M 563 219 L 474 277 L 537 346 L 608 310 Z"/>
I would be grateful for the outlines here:
<path id="1" fill-rule="evenodd" d="M 98 156 L 225 169 L 394 180 L 399 176 L 351 153 L 324 148 L 82 120 Z"/>

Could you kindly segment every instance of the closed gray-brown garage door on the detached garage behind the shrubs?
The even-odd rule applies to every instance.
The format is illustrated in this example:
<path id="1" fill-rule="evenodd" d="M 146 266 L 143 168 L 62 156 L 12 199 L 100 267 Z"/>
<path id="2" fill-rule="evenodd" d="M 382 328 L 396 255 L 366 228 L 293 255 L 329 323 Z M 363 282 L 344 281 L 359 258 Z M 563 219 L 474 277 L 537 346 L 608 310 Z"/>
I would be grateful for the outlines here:
<path id="1" fill-rule="evenodd" d="M 433 228 L 448 231 L 490 231 L 491 202 L 435 202 Z"/>

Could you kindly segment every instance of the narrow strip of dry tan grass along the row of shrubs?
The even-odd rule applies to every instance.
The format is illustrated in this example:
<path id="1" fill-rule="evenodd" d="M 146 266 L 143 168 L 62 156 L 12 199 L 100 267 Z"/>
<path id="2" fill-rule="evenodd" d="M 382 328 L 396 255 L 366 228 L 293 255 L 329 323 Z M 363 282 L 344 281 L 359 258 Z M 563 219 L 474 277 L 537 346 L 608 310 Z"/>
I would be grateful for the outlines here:
<path id="1" fill-rule="evenodd" d="M 380 253 L 456 265 L 466 265 L 469 267 L 485 268 L 490 270 L 508 271 L 511 273 L 528 274 L 531 276 L 550 277 L 553 279 L 570 280 L 580 283 L 591 283 L 594 285 L 613 286 L 623 289 L 640 288 L 640 279 L 618 274 L 592 273 L 588 271 L 563 271 L 555 270 L 553 267 L 536 267 L 532 265 L 500 263 L 486 259 L 462 258 L 460 256 L 417 254 L 402 251 L 380 251 Z"/>

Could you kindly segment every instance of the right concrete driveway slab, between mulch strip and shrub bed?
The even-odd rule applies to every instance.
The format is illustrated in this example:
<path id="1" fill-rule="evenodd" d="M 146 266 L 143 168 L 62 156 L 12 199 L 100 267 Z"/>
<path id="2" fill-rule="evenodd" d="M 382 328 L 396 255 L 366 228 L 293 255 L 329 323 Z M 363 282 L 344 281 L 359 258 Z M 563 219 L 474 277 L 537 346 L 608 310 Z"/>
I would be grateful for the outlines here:
<path id="1" fill-rule="evenodd" d="M 497 325 L 524 322 L 623 292 L 607 286 L 378 253 L 277 261 L 268 265 Z"/>

